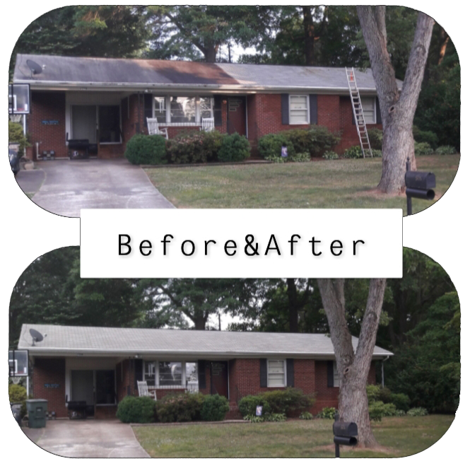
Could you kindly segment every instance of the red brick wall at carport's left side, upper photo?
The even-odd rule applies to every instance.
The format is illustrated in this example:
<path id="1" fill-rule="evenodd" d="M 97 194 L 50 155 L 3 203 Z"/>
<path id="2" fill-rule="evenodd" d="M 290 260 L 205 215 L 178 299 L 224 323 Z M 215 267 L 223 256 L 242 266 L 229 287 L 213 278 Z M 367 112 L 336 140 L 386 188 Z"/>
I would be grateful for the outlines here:
<path id="1" fill-rule="evenodd" d="M 58 120 L 59 124 L 42 124 L 42 120 Z M 57 157 L 67 157 L 65 144 L 65 93 L 38 92 L 31 93 L 31 113 L 26 118 L 26 129 L 33 144 L 27 150 L 28 158 L 35 159 L 36 142 L 39 152 L 56 151 Z"/>

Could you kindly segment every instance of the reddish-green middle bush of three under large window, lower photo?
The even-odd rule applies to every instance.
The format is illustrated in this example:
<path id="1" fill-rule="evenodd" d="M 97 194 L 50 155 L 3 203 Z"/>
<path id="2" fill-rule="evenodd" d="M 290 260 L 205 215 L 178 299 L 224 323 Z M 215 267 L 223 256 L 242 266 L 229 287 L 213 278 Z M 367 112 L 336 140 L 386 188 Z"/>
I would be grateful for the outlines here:
<path id="1" fill-rule="evenodd" d="M 201 419 L 204 395 L 201 393 L 170 394 L 158 400 L 155 405 L 160 422 L 189 422 Z"/>

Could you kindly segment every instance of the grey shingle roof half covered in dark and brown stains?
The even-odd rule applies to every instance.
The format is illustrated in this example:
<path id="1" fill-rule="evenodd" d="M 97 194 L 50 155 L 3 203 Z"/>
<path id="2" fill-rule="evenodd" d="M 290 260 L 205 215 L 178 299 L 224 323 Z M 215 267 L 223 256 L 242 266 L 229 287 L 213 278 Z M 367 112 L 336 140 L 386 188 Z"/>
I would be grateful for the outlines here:
<path id="1" fill-rule="evenodd" d="M 31 76 L 27 61 L 33 60 L 43 71 Z M 177 60 L 110 59 L 18 54 L 15 82 L 32 86 L 141 86 L 150 88 L 218 89 L 312 89 L 348 91 L 344 68 L 183 62 Z M 358 87 L 375 91 L 370 69 L 356 69 Z M 399 86 L 401 86 L 401 81 Z"/>

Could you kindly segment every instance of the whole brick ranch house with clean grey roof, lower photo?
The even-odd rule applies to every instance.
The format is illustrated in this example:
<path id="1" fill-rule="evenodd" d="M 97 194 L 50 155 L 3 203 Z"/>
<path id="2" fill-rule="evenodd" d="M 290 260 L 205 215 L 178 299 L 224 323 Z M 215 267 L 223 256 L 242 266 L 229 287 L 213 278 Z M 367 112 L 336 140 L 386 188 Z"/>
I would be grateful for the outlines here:
<path id="1" fill-rule="evenodd" d="M 31 328 L 47 337 L 33 346 Z M 30 393 L 48 400 L 57 417 L 68 415 L 67 402 L 83 400 L 95 419 L 114 417 L 120 400 L 138 395 L 138 380 L 157 399 L 185 390 L 223 395 L 229 418 L 240 417 L 242 397 L 286 387 L 315 395 L 313 414 L 338 406 L 333 344 L 325 334 L 25 324 L 19 341 L 18 349 L 29 351 Z M 389 356 L 375 346 L 369 383 L 375 383 L 375 362 Z"/>

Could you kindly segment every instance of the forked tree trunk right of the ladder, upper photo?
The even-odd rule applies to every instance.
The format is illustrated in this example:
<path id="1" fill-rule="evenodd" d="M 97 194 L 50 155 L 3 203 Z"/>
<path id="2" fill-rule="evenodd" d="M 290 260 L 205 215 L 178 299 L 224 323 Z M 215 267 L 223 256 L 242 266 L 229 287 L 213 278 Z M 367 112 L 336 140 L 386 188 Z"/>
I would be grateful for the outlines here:
<path id="1" fill-rule="evenodd" d="M 360 27 L 368 47 L 372 75 L 377 87 L 384 138 L 382 141 L 382 178 L 378 189 L 400 194 L 405 189 L 406 159 L 416 170 L 414 158 L 413 117 L 423 82 L 434 20 L 418 14 L 413 46 L 401 94 L 387 50 L 384 6 L 358 6 Z"/>

